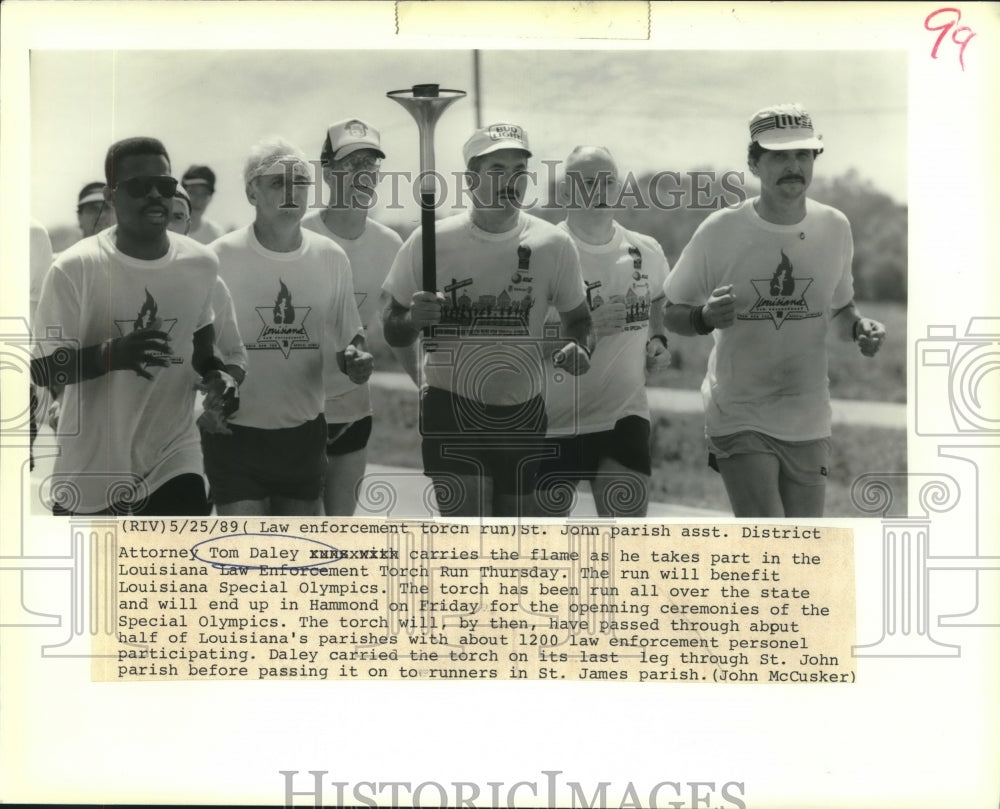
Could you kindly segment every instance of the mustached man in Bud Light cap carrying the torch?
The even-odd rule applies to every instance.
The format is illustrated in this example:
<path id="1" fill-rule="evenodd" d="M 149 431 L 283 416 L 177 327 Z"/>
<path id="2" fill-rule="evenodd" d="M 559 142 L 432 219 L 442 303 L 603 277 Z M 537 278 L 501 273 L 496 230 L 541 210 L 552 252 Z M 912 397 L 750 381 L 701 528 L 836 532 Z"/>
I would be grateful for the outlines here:
<path id="1" fill-rule="evenodd" d="M 383 285 L 392 296 L 383 328 L 389 345 L 408 346 L 431 327 L 422 454 L 441 514 L 513 517 L 530 509 L 545 453 L 546 314 L 559 313 L 561 372 L 577 375 L 589 367 L 590 310 L 573 240 L 521 210 L 531 157 L 524 130 L 492 124 L 462 152 L 472 208 L 437 224 L 440 291 L 421 289 L 418 230 Z"/>

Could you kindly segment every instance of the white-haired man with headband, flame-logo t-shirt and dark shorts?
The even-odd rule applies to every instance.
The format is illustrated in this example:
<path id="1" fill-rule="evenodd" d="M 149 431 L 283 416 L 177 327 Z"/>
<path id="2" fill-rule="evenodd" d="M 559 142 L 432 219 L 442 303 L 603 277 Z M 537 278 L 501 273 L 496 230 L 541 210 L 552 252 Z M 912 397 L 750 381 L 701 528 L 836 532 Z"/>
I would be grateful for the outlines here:
<path id="1" fill-rule="evenodd" d="M 232 435 L 202 436 L 220 514 L 322 513 L 324 353 L 352 384 L 372 371 L 347 255 L 303 230 L 310 166 L 280 140 L 259 143 L 243 179 L 256 216 L 212 244 L 250 362 Z"/>

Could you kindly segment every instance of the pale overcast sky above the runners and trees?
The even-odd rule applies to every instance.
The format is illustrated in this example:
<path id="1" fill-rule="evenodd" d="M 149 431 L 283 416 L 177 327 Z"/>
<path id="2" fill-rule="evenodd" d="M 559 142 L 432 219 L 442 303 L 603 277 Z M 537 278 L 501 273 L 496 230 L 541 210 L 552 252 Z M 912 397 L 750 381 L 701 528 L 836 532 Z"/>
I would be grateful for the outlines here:
<path id="1" fill-rule="evenodd" d="M 383 167 L 416 173 L 416 125 L 386 92 L 425 82 L 469 92 L 436 131 L 437 168 L 459 171 L 472 65 L 469 50 L 33 51 L 32 215 L 72 224 L 107 146 L 138 134 L 163 140 L 178 177 L 195 162 L 216 171 L 209 216 L 224 225 L 252 218 L 242 160 L 267 135 L 315 158 L 328 124 L 362 118 L 382 131 Z M 853 167 L 905 202 L 906 66 L 905 53 L 878 51 L 483 51 L 482 115 L 523 125 L 539 159 L 597 143 L 637 173 L 743 170 L 750 115 L 798 101 L 827 144 L 819 176 Z M 406 210 L 379 215 L 415 221 L 403 197 Z"/>

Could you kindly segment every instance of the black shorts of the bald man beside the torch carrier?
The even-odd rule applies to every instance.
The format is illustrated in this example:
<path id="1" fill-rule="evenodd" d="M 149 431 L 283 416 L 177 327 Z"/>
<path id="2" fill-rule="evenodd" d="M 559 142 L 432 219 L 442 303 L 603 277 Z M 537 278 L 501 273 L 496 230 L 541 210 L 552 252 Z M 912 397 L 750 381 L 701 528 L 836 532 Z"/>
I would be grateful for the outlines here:
<path id="1" fill-rule="evenodd" d="M 567 480 L 593 480 L 603 458 L 612 458 L 626 469 L 643 475 L 652 474 L 649 429 L 648 419 L 625 416 L 610 430 L 546 439 L 552 452 L 542 461 L 539 488 Z"/>

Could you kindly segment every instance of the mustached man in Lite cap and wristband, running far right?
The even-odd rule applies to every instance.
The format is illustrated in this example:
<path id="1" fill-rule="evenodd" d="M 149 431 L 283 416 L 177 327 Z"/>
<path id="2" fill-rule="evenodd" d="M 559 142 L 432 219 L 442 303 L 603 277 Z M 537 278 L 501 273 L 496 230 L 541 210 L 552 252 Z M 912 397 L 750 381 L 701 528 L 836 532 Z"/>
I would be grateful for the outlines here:
<path id="1" fill-rule="evenodd" d="M 885 327 L 854 304 L 847 217 L 806 196 L 823 142 L 795 104 L 750 119 L 760 196 L 708 217 L 667 278 L 665 318 L 709 334 L 709 464 L 737 517 L 819 517 L 830 466 L 826 338 L 866 357 Z"/>

